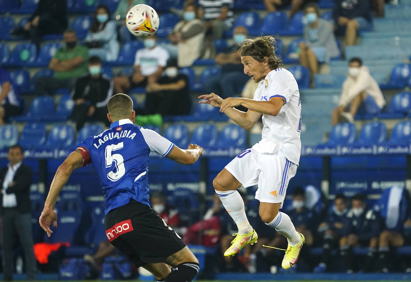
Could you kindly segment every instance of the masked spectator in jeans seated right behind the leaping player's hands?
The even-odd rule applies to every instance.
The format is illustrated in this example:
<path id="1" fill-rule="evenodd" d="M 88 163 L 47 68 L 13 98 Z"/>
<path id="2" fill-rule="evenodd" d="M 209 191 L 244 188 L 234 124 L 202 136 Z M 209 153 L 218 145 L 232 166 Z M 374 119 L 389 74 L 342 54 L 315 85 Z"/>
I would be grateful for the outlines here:
<path id="1" fill-rule="evenodd" d="M 219 53 L 215 57 L 215 63 L 221 66 L 221 75 L 211 77 L 205 82 L 206 93 L 218 93 L 223 99 L 235 97 L 240 93 L 240 89 L 247 82 L 247 76 L 244 75 L 238 49 L 240 48 L 239 43 L 247 38 L 248 32 L 245 27 L 238 26 L 234 29 L 234 44 L 225 53 Z"/>

